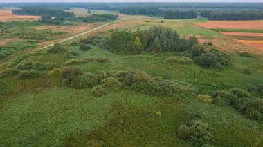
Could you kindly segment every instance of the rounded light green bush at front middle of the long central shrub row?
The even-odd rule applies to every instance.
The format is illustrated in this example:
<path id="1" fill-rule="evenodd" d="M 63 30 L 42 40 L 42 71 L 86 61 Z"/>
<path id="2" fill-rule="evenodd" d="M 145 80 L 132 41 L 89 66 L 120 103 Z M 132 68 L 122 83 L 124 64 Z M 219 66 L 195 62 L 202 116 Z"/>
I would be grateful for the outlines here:
<path id="1" fill-rule="evenodd" d="M 100 85 L 102 85 L 104 88 L 106 88 L 109 91 L 117 91 L 123 87 L 123 84 L 120 83 L 118 79 L 115 79 L 113 77 L 102 79 L 102 81 L 100 81 Z"/>

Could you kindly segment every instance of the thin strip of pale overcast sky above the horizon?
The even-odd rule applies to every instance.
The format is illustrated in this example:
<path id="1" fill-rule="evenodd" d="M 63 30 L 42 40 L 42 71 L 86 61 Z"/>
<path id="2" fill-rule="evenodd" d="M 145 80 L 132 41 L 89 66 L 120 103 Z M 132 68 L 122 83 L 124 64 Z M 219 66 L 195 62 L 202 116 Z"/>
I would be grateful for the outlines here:
<path id="1" fill-rule="evenodd" d="M 261 2 L 263 0 L 0 0 L 0 3 L 21 2 Z"/>

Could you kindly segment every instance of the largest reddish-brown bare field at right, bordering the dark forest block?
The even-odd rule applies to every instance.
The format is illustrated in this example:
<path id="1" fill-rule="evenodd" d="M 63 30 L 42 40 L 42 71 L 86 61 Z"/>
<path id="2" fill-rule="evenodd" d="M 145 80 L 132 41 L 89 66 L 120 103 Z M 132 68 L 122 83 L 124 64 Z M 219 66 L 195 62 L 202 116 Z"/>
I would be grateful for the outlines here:
<path id="1" fill-rule="evenodd" d="M 196 23 L 205 28 L 236 28 L 236 29 L 263 29 L 263 20 L 260 21 L 208 21 Z"/>

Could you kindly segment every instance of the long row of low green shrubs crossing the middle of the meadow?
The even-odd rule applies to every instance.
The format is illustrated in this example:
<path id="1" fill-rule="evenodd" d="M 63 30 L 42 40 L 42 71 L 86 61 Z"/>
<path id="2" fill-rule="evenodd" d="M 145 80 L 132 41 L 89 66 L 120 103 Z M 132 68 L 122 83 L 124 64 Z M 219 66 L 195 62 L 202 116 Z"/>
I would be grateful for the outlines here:
<path id="1" fill-rule="evenodd" d="M 92 75 L 90 73 L 83 74 L 80 68 L 68 67 L 61 72 L 62 83 L 71 88 L 91 88 L 100 85 L 108 91 L 125 88 L 147 95 L 170 97 L 190 97 L 197 93 L 196 88 L 190 84 L 176 80 L 165 80 L 161 77 L 150 77 L 141 71 L 125 70 Z"/>

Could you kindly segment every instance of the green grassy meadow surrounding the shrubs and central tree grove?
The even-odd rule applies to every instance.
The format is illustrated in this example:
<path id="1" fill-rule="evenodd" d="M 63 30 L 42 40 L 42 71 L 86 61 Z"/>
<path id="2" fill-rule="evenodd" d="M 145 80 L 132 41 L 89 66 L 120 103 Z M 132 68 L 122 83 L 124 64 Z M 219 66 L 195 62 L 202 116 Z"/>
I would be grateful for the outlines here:
<path id="1" fill-rule="evenodd" d="M 86 12 L 79 9 L 70 11 L 79 15 Z M 96 10 L 91 12 L 105 13 Z M 263 81 L 262 53 L 242 55 L 240 52 L 226 52 L 231 65 L 219 70 L 203 68 L 194 62 L 167 62 L 168 57 L 179 59 L 183 56 L 176 51 L 116 55 L 107 47 L 91 43 L 86 44 L 91 49 L 83 51 L 78 43 L 80 39 L 92 35 L 110 39 L 111 29 L 135 31 L 138 28 L 147 30 L 152 26 L 172 28 L 181 38 L 196 35 L 199 39 L 210 41 L 215 37 L 226 37 L 215 30 L 194 25 L 206 21 L 123 19 L 62 43 L 66 52 L 78 54 L 73 59 L 66 58 L 65 53 L 48 52 L 51 48 L 25 52 L 28 53 L 26 55 L 14 53 L 8 61 L 0 59 L 3 63 L 0 71 L 15 68 L 25 59 L 43 64 L 52 62 L 60 70 L 74 59 L 106 57 L 109 61 L 105 63 L 91 61 L 71 66 L 94 75 L 127 68 L 143 70 L 152 77 L 192 84 L 201 95 L 212 95 L 216 90 L 241 88 L 263 99 L 257 91 L 257 85 Z M 250 74 L 244 74 L 246 69 L 249 69 Z M 229 105 L 207 104 L 196 96 L 162 97 L 125 88 L 96 97 L 92 95 L 91 88 L 62 86 L 60 77 L 52 75 L 52 71 L 55 70 L 37 71 L 36 77 L 26 79 L 19 79 L 17 75 L 0 78 L 0 146 L 201 146 L 180 139 L 176 133 L 179 126 L 195 119 L 212 127 L 215 140 L 213 146 L 263 145 L 262 121 L 248 119 Z"/>

